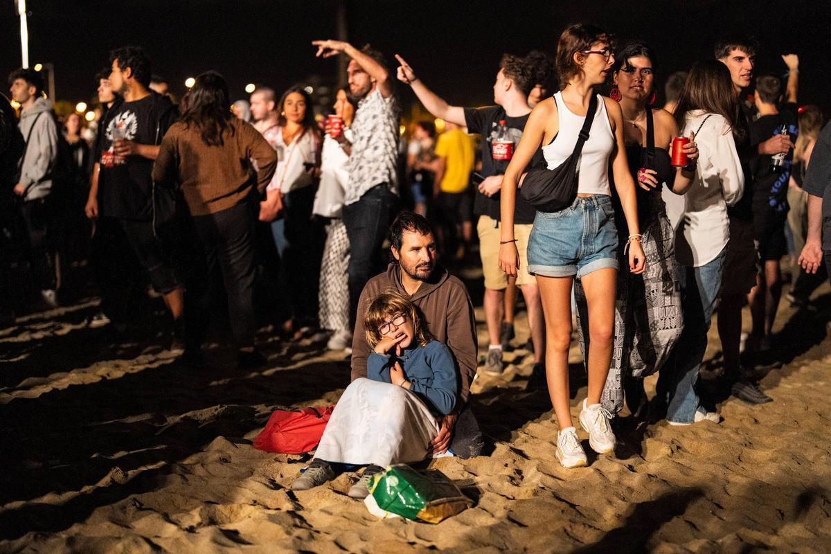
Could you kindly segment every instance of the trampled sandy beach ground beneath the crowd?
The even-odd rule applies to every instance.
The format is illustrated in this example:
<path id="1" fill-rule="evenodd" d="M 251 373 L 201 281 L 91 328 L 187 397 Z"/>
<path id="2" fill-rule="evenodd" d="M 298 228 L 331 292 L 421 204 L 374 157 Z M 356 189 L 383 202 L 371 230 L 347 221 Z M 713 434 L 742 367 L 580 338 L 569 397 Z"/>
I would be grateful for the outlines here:
<path id="1" fill-rule="evenodd" d="M 827 284 L 814 303 L 780 308 L 783 361 L 759 366 L 773 403 L 724 399 L 721 424 L 685 428 L 623 412 L 616 455 L 581 431 L 590 464 L 572 470 L 554 458 L 548 395 L 524 390 L 520 312 L 504 375 L 473 388 L 485 455 L 430 464 L 475 505 L 435 526 L 377 520 L 347 497 L 349 474 L 293 493 L 303 459 L 251 446 L 273 409 L 334 404 L 347 355 L 263 329 L 267 368 L 235 370 L 213 344 L 192 370 L 157 346 L 158 299 L 126 342 L 86 326 L 94 297 L 25 316 L 0 330 L 0 552 L 831 552 Z M 719 349 L 714 326 L 705 377 Z M 575 416 L 579 360 L 573 346 Z"/>

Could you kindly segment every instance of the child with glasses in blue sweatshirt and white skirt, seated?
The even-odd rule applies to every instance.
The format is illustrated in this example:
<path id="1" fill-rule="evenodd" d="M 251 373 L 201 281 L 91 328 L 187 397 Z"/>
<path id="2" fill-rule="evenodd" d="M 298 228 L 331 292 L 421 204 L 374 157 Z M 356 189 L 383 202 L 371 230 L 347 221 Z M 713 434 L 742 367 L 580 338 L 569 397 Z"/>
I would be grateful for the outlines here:
<path id="1" fill-rule="evenodd" d="M 343 392 L 305 473 L 292 483 L 306 490 L 335 477 L 332 464 L 365 465 L 349 489 L 365 498 L 371 478 L 393 463 L 420 462 L 450 414 L 458 392 L 455 360 L 435 341 L 418 308 L 387 289 L 366 308 L 366 341 L 372 348 L 366 378 Z"/>

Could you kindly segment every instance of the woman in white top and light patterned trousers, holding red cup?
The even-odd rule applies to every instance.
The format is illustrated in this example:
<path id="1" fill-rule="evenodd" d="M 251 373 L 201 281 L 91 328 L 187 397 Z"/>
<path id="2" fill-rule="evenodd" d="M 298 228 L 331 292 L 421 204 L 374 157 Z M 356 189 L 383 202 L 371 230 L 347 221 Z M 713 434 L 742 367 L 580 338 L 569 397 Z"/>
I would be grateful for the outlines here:
<path id="1" fill-rule="evenodd" d="M 317 317 L 321 329 L 332 331 L 327 348 L 342 351 L 352 345 L 349 326 L 349 237 L 343 223 L 343 199 L 349 184 L 349 154 L 332 135 L 349 133 L 355 104 L 347 87 L 337 91 L 335 115 L 342 120 L 342 130 L 331 131 L 323 138 L 320 186 L 312 213 L 326 221 L 326 243 L 320 265 L 320 295 Z"/>

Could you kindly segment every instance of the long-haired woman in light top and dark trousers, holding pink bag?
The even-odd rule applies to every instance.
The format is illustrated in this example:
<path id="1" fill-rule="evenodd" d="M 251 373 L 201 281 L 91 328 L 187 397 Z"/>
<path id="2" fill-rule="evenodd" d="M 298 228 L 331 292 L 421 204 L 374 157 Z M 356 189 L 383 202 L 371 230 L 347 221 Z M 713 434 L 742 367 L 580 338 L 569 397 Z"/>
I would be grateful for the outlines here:
<path id="1" fill-rule="evenodd" d="M 281 296 L 288 299 L 286 307 L 290 309 L 283 331 L 306 331 L 317 321 L 317 275 L 325 240 L 320 226 L 312 223 L 322 140 L 312 96 L 301 86 L 283 93 L 277 111 L 278 126 L 273 135 L 277 169 L 260 214 L 282 203 L 282 217 L 271 224 L 271 229 L 281 260 Z"/>

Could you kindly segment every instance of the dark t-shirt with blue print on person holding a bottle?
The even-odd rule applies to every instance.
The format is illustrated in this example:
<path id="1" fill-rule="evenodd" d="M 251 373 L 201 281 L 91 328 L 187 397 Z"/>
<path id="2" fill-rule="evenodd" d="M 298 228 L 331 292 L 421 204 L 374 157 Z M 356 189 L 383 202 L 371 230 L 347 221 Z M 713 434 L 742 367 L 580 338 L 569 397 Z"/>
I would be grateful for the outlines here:
<path id="1" fill-rule="evenodd" d="M 760 143 L 779 135 L 782 125 L 788 126 L 791 139 L 799 133 L 796 115 L 780 111 L 776 115 L 763 115 L 750 125 L 750 144 L 758 149 Z M 770 170 L 770 155 L 757 155 L 753 160 L 753 208 L 756 213 L 784 213 L 788 208 L 788 181 L 793 159 L 793 150 L 785 156 L 778 172 Z M 745 184 L 745 186 L 747 186 Z"/>

